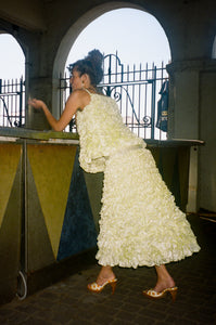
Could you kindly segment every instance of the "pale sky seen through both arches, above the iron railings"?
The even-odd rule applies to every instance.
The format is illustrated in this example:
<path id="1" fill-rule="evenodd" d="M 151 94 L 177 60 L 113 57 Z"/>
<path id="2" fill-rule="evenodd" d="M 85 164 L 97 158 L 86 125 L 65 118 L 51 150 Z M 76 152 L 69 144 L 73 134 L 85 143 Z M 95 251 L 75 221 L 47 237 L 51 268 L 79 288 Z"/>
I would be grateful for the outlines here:
<path id="1" fill-rule="evenodd" d="M 25 57 L 16 40 L 0 34 L 0 79 L 25 78 Z M 160 23 L 147 12 L 119 9 L 107 12 L 79 34 L 65 66 L 82 58 L 92 49 L 118 53 L 124 65 L 160 64 L 170 61 L 169 44 Z"/>

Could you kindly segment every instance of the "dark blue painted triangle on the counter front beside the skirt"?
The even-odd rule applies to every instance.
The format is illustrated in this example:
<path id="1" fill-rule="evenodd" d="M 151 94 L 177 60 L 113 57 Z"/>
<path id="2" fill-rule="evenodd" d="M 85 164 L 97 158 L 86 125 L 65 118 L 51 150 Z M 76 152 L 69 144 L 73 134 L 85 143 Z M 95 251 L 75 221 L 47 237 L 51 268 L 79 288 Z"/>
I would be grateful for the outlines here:
<path id="1" fill-rule="evenodd" d="M 58 260 L 68 258 L 97 245 L 96 226 L 84 172 L 79 167 L 78 154 L 77 150 Z"/>

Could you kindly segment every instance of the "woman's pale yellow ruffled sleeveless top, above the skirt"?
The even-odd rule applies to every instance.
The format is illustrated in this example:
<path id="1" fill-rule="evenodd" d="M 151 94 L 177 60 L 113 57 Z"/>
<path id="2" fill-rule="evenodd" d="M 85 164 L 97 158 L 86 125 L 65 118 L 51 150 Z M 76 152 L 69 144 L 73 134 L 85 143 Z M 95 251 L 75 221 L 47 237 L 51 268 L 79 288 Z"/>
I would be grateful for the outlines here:
<path id="1" fill-rule="evenodd" d="M 79 162 L 87 172 L 104 171 L 105 160 L 125 146 L 145 146 L 123 122 L 116 102 L 91 94 L 90 104 L 77 112 L 80 141 Z"/>

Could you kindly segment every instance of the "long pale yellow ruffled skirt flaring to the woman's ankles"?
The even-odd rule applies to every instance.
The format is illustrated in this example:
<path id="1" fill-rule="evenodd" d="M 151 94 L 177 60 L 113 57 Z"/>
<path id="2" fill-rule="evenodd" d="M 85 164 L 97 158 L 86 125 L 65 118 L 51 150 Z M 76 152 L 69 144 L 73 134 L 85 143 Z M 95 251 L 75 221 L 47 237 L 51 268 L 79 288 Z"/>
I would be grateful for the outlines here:
<path id="1" fill-rule="evenodd" d="M 125 150 L 106 160 L 97 259 L 137 268 L 178 261 L 200 247 L 149 150 Z"/>

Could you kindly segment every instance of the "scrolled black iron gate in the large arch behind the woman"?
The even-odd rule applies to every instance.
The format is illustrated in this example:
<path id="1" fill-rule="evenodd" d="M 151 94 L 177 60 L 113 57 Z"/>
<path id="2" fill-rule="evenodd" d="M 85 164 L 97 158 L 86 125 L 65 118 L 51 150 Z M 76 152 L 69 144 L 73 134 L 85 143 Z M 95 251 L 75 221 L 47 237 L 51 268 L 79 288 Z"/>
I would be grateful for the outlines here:
<path id="1" fill-rule="evenodd" d="M 120 63 L 116 53 L 104 56 L 104 77 L 98 88 L 116 100 L 123 120 L 132 132 L 143 139 L 165 140 L 166 126 L 160 127 L 161 112 L 157 104 L 162 96 L 161 90 L 167 80 L 168 75 L 163 63 L 161 67 L 153 63 L 151 67 L 140 64 L 139 68 L 134 65 L 130 69 Z M 64 107 L 69 92 L 69 77 L 60 78 L 60 107 Z M 167 110 L 163 110 L 163 115 L 165 125 Z M 66 131 L 76 132 L 73 121 Z"/>

